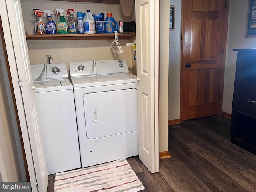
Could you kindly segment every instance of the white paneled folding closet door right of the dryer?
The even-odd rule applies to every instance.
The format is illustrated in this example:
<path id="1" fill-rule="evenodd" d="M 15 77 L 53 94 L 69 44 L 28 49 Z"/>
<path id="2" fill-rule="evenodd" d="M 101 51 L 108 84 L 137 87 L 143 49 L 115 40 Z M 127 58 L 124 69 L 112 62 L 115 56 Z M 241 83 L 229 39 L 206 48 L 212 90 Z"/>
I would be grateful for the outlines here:
<path id="1" fill-rule="evenodd" d="M 159 172 L 158 65 L 159 1 L 135 0 L 139 158 Z"/>

